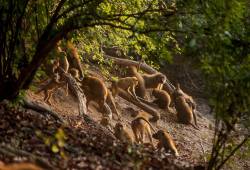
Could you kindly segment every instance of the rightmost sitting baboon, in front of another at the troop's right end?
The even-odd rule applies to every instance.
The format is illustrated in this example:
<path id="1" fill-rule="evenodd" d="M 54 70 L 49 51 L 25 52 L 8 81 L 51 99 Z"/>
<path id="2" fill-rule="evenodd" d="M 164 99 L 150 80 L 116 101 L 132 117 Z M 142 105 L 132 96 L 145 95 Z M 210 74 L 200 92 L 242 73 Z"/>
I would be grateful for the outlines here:
<path id="1" fill-rule="evenodd" d="M 175 108 L 177 111 L 177 118 L 179 122 L 184 124 L 190 124 L 195 129 L 198 129 L 196 115 L 192 111 L 192 107 L 190 107 L 189 104 L 186 102 L 184 96 L 178 96 L 175 99 Z M 195 125 L 192 123 L 192 121 L 194 121 Z"/>

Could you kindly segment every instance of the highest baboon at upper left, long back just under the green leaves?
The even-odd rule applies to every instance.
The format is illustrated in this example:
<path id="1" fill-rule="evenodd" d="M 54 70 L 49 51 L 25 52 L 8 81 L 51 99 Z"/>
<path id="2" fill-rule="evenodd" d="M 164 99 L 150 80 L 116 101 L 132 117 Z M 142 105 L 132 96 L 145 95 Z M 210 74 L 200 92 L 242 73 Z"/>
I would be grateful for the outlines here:
<path id="1" fill-rule="evenodd" d="M 80 72 L 81 77 L 84 77 L 83 68 L 81 64 L 80 57 L 77 53 L 76 47 L 74 47 L 73 43 L 71 43 L 69 40 L 66 44 L 66 50 L 68 55 L 68 60 L 70 62 L 70 67 L 77 68 Z"/>

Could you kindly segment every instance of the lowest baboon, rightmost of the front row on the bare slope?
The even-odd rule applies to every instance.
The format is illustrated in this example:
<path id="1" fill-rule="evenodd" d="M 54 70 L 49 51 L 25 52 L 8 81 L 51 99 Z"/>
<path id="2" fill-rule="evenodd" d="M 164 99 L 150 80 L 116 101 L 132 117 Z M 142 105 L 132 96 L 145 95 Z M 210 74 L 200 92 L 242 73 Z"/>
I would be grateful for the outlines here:
<path id="1" fill-rule="evenodd" d="M 157 133 L 153 134 L 153 138 L 159 140 L 158 149 L 164 147 L 166 152 L 170 150 L 175 156 L 179 156 L 174 140 L 166 131 L 158 130 Z"/>

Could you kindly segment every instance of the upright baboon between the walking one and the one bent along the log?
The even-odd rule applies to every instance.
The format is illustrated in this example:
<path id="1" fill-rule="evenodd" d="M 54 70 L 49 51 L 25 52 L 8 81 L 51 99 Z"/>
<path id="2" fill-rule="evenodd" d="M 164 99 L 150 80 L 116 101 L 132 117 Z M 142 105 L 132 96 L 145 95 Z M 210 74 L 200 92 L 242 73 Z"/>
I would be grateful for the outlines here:
<path id="1" fill-rule="evenodd" d="M 129 75 L 137 78 L 138 85 L 135 88 L 135 92 L 136 92 L 137 96 L 145 99 L 146 87 L 145 87 L 145 82 L 144 82 L 142 75 L 140 73 L 138 73 L 137 68 L 135 66 L 129 67 Z"/>

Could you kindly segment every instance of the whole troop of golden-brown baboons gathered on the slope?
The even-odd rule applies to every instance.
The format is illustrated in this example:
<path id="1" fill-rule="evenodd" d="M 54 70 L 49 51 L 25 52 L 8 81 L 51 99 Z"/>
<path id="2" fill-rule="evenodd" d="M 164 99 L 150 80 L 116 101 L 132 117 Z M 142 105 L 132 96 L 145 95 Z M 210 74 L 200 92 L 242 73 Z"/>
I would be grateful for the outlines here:
<path id="1" fill-rule="evenodd" d="M 99 111 L 103 113 L 99 123 L 112 133 L 114 132 L 115 137 L 124 143 L 143 144 L 145 143 L 144 138 L 147 136 L 153 148 L 153 140 L 158 140 L 157 148 L 159 150 L 164 148 L 166 152 L 170 150 L 173 155 L 179 156 L 171 135 L 165 130 L 155 132 L 149 121 L 149 114 L 145 111 L 134 111 L 131 114 L 133 120 L 130 122 L 130 128 L 133 136 L 130 135 L 128 129 L 121 123 L 121 114 L 114 100 L 121 91 L 128 93 L 138 102 L 153 104 L 153 107 L 161 108 L 168 114 L 173 114 L 180 123 L 192 125 L 195 129 L 198 129 L 195 101 L 183 92 L 179 84 L 176 85 L 172 93 L 163 90 L 162 87 L 167 78 L 161 73 L 140 73 L 139 68 L 129 66 L 129 75 L 119 78 L 117 81 L 112 81 L 111 87 L 108 88 L 100 78 L 83 74 L 77 50 L 70 41 L 67 41 L 65 48 L 61 48 L 60 43 L 58 43 L 57 56 L 52 66 L 53 73 L 50 75 L 51 81 L 37 91 L 37 93 L 44 91 L 44 101 L 49 104 L 51 104 L 49 100 L 56 89 L 66 85 L 66 95 L 68 93 L 67 82 L 61 77 L 58 69 L 63 69 L 65 73 L 71 74 L 77 80 L 79 87 L 86 96 L 87 108 L 91 101 L 97 103 Z M 147 99 L 147 92 L 150 91 L 152 92 L 149 93 L 151 99 L 153 98 L 152 101 Z M 174 106 L 171 105 L 171 102 Z M 118 120 L 113 120 L 112 112 L 115 112 Z M 176 114 L 174 114 L 175 112 Z M 117 121 L 114 127 L 112 127 L 112 123 L 114 123 L 112 121 Z M 152 134 L 152 130 L 154 134 Z"/>

